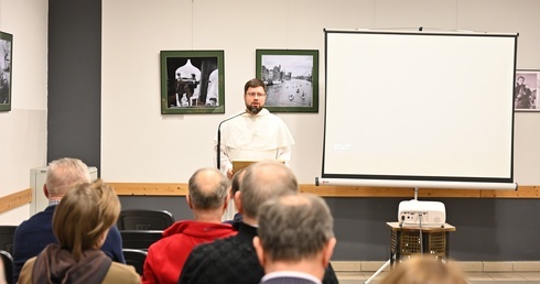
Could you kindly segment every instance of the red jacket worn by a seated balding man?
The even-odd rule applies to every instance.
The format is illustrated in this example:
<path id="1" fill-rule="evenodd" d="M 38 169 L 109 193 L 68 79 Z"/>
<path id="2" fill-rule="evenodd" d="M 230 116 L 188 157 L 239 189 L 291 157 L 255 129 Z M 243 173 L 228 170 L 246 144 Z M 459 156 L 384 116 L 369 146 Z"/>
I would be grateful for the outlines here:
<path id="1" fill-rule="evenodd" d="M 179 281 L 184 262 L 193 248 L 237 231 L 228 223 L 177 221 L 163 232 L 163 239 L 150 245 L 144 261 L 141 283 L 173 283 Z"/>

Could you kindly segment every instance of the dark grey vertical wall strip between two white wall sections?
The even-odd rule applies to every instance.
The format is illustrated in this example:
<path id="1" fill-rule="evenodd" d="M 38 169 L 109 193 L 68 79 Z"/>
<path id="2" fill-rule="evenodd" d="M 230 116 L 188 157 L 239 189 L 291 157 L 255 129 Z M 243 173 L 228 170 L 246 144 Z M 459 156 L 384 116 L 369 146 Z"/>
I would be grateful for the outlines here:
<path id="1" fill-rule="evenodd" d="M 48 1 L 47 162 L 100 167 L 101 1 Z"/>

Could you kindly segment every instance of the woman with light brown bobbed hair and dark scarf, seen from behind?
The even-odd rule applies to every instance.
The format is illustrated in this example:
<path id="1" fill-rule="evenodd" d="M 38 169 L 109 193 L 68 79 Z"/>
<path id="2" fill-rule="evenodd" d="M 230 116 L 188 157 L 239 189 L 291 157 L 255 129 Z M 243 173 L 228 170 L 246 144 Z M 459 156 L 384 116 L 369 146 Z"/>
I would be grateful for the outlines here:
<path id="1" fill-rule="evenodd" d="M 26 261 L 19 283 L 140 283 L 133 266 L 112 262 L 99 250 L 119 215 L 120 200 L 101 179 L 67 190 L 53 216 L 58 244 Z"/>

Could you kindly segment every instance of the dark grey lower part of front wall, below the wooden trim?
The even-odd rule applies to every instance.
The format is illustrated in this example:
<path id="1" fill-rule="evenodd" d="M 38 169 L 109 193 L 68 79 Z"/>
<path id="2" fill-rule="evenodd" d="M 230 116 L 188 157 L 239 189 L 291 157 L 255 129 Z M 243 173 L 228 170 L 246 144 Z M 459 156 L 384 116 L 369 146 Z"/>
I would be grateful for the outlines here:
<path id="1" fill-rule="evenodd" d="M 389 258 L 390 230 L 403 198 L 325 198 L 335 220 L 333 260 L 381 261 Z M 125 209 L 165 209 L 175 220 L 191 219 L 184 197 L 121 196 Z M 436 199 L 430 199 L 436 200 Z M 450 256 L 460 261 L 534 261 L 540 255 L 538 199 L 439 199 L 446 206 Z M 532 221 L 531 221 L 532 220 Z"/>

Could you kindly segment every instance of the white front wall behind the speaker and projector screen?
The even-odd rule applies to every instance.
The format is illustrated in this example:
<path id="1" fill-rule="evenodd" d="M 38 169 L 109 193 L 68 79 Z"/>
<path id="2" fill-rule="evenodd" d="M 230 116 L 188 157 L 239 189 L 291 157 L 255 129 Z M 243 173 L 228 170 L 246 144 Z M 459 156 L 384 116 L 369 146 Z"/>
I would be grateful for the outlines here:
<path id="1" fill-rule="evenodd" d="M 279 113 L 296 145 L 303 184 L 321 174 L 323 29 L 519 32 L 518 68 L 540 68 L 540 1 L 527 0 L 105 0 L 101 175 L 111 182 L 185 183 L 213 166 L 218 122 L 244 106 L 257 48 L 320 51 L 320 112 Z M 160 51 L 224 50 L 225 114 L 160 114 Z M 354 83 L 350 86 L 354 89 Z M 515 177 L 540 184 L 540 113 L 517 113 Z M 352 122 L 354 123 L 354 122 Z"/>

